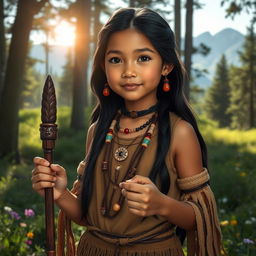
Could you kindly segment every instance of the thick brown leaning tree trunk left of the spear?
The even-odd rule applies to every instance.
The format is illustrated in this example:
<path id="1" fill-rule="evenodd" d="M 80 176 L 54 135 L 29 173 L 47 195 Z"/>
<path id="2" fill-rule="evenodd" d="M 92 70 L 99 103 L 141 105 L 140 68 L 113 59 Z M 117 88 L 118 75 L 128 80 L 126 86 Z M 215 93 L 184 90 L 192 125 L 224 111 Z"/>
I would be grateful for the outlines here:
<path id="1" fill-rule="evenodd" d="M 29 45 L 29 33 L 33 17 L 46 0 L 18 1 L 17 14 L 12 27 L 12 39 L 6 65 L 4 88 L 0 103 L 0 156 L 12 154 L 19 162 L 18 112 L 25 60 Z"/>

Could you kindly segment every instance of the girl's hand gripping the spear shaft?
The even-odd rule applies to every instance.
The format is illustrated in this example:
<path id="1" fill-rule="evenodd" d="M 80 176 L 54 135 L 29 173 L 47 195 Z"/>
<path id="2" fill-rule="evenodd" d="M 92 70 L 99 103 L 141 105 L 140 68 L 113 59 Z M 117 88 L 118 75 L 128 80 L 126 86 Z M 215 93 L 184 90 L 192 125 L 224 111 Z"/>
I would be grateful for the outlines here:
<path id="1" fill-rule="evenodd" d="M 44 196 L 45 188 L 53 188 L 54 200 L 58 200 L 67 189 L 65 169 L 58 164 L 51 164 L 44 158 L 33 159 L 35 168 L 32 170 L 32 188 Z"/>

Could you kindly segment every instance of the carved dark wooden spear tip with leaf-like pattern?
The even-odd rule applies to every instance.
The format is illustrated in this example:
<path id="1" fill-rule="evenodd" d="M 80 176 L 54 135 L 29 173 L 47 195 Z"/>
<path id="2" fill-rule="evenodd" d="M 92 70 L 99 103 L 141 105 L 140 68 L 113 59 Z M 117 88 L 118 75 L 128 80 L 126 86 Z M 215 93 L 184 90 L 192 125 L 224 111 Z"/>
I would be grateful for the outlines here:
<path id="1" fill-rule="evenodd" d="M 55 123 L 57 108 L 54 83 L 50 75 L 47 76 L 42 95 L 41 120 L 42 123 Z"/>

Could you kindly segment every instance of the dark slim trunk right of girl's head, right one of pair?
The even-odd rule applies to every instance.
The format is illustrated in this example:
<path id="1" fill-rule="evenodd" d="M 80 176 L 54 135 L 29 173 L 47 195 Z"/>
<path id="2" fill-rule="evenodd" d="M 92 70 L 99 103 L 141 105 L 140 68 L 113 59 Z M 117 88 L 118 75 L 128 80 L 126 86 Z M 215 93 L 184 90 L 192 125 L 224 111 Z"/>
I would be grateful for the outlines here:
<path id="1" fill-rule="evenodd" d="M 186 34 L 185 34 L 185 69 L 187 75 L 185 76 L 184 91 L 189 100 L 189 85 L 191 78 L 191 58 L 193 49 L 193 0 L 187 0 L 186 3 Z"/>

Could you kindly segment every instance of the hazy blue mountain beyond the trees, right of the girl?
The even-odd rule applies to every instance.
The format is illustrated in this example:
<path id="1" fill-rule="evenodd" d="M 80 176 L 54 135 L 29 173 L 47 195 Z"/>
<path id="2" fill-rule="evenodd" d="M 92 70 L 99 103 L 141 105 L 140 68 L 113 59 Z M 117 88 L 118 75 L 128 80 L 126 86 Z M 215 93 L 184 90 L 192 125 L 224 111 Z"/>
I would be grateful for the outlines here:
<path id="1" fill-rule="evenodd" d="M 197 47 L 200 43 L 210 47 L 211 51 L 207 56 L 199 54 L 193 55 L 193 67 L 198 69 L 207 69 L 209 74 L 197 79 L 195 83 L 202 88 L 207 88 L 211 85 L 216 64 L 220 61 L 222 54 L 225 54 L 228 64 L 240 64 L 237 52 L 243 47 L 244 35 L 234 29 L 226 28 L 215 35 L 205 32 L 195 37 L 194 47 Z"/>

